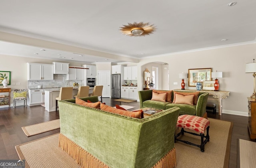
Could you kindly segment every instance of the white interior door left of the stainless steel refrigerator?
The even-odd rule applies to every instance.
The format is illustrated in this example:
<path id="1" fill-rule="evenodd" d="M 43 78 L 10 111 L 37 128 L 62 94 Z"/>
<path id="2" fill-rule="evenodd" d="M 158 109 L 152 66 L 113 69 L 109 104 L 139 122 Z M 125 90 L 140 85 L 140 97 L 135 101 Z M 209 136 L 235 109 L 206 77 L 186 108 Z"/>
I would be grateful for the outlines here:
<path id="1" fill-rule="evenodd" d="M 98 71 L 97 85 L 103 85 L 102 97 L 110 97 L 110 71 Z"/>

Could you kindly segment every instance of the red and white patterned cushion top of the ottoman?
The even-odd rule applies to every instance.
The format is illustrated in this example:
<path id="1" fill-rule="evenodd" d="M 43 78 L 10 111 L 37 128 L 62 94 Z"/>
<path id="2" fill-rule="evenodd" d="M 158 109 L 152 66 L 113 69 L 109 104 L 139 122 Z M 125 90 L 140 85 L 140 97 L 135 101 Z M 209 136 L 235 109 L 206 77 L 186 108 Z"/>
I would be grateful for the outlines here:
<path id="1" fill-rule="evenodd" d="M 194 115 L 181 115 L 178 117 L 176 127 L 195 130 L 204 134 L 206 128 L 210 125 L 210 121 Z"/>

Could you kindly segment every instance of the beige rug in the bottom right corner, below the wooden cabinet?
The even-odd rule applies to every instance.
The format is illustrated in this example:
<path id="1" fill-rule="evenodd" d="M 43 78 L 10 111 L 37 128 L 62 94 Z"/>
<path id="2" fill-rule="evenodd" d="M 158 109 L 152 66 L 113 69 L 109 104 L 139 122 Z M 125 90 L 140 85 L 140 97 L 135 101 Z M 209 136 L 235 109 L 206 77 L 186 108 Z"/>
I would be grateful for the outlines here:
<path id="1" fill-rule="evenodd" d="M 256 167 L 256 142 L 239 139 L 240 168 Z M 237 165 L 239 167 L 239 165 Z"/>

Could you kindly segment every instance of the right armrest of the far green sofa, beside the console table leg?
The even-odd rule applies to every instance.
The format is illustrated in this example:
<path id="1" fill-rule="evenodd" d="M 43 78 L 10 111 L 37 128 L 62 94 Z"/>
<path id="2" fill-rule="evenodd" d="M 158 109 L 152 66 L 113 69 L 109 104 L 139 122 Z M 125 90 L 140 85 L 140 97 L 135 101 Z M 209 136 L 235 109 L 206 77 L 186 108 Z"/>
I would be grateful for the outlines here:
<path id="1" fill-rule="evenodd" d="M 209 93 L 204 93 L 198 97 L 196 104 L 196 116 L 203 117 L 206 113 L 206 104 Z"/>

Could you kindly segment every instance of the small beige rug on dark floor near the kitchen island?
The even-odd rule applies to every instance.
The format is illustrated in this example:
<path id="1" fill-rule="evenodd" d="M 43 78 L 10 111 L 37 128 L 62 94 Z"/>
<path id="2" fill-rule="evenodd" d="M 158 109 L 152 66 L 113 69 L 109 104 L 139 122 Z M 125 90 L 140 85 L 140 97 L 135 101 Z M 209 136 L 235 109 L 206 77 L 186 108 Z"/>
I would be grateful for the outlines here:
<path id="1" fill-rule="evenodd" d="M 35 125 L 23 126 L 21 128 L 26 134 L 26 136 L 41 134 L 43 132 L 60 128 L 60 119 L 47 121 L 47 122 L 39 123 Z"/>

